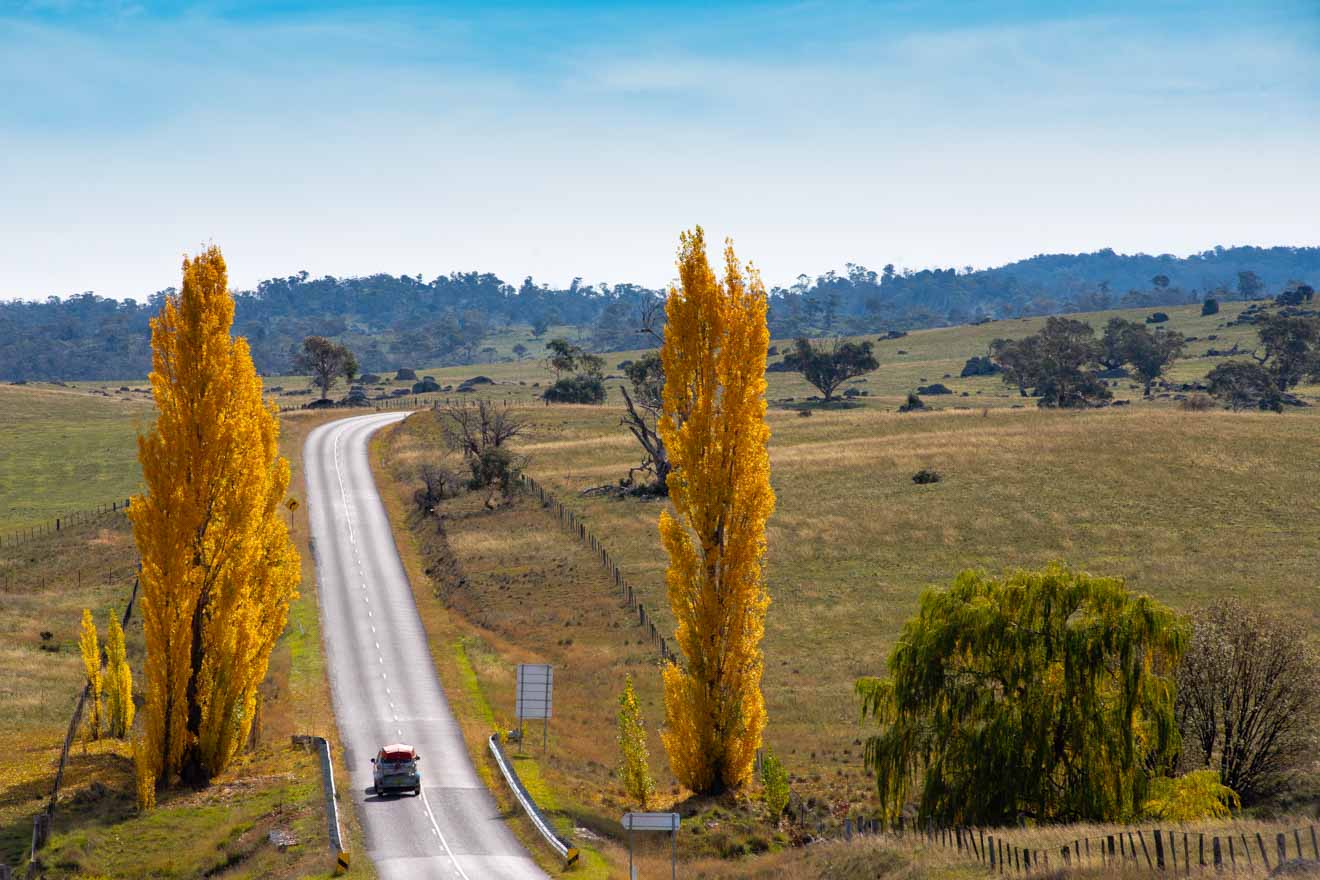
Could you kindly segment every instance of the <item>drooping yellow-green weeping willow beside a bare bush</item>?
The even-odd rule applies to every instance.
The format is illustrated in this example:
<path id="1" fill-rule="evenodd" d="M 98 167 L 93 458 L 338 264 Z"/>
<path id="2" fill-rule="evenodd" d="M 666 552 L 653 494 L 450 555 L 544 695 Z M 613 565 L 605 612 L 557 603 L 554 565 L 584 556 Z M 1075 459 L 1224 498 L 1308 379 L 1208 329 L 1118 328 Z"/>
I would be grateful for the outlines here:
<path id="1" fill-rule="evenodd" d="M 857 683 L 890 818 L 915 800 L 948 825 L 1139 813 L 1177 756 L 1184 621 L 1119 578 L 1063 566 L 928 590 L 890 656 Z"/>

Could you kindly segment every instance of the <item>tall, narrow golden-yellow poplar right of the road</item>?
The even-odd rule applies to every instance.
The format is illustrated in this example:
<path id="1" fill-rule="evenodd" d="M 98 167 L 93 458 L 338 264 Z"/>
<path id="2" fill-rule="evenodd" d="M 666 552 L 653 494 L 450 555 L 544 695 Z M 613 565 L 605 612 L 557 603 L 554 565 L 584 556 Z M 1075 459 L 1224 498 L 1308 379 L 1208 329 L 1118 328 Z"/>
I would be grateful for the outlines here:
<path id="1" fill-rule="evenodd" d="M 733 244 L 725 278 L 706 261 L 701 227 L 682 234 L 681 286 L 669 289 L 664 412 L 669 499 L 660 515 L 669 554 L 665 582 L 685 665 L 664 669 L 665 751 L 675 776 L 697 793 L 748 780 L 766 703 L 760 693 L 766 628 L 762 558 L 770 488 L 766 425 L 766 288 L 744 274 Z"/>

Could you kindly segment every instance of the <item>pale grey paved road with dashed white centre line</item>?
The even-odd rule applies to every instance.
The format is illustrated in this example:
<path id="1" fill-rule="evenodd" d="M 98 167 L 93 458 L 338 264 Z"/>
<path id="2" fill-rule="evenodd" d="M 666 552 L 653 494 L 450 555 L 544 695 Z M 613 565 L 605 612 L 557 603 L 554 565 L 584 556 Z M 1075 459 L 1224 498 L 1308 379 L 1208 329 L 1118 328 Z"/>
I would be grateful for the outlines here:
<path id="1" fill-rule="evenodd" d="M 368 438 L 404 416 L 330 422 L 304 449 L 330 686 L 367 855 L 383 880 L 544 879 L 469 760 L 371 478 Z M 400 740 L 422 757 L 422 796 L 368 794 L 372 756 Z"/>

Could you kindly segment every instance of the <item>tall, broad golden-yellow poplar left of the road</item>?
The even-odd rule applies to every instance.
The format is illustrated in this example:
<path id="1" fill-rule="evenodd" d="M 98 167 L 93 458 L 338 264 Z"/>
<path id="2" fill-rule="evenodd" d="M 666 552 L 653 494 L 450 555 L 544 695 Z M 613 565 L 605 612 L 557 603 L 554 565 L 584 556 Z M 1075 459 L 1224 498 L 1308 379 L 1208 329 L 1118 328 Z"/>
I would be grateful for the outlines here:
<path id="1" fill-rule="evenodd" d="M 183 260 L 182 290 L 152 319 L 157 417 L 137 439 L 147 492 L 129 517 L 147 637 L 137 767 L 157 786 L 173 773 L 206 784 L 247 740 L 257 685 L 297 595 L 298 555 L 279 516 L 289 463 L 232 322 L 214 245 Z"/>

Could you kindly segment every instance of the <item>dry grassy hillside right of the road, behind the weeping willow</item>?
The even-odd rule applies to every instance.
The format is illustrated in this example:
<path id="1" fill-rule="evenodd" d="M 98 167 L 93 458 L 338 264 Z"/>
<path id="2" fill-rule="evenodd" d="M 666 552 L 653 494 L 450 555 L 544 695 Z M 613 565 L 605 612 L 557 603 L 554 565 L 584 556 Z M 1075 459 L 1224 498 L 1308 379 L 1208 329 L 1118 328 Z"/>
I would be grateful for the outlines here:
<path id="1" fill-rule="evenodd" d="M 1201 318 L 1199 309 L 1170 311 L 1175 329 L 1200 336 L 1193 354 L 1209 344 L 1250 343 L 1249 329 L 1218 326 L 1232 319 L 1229 309 L 1214 318 Z M 1107 317 L 1089 318 L 1102 326 Z M 1172 397 L 1143 401 L 1138 389 L 1121 388 L 1117 396 L 1131 406 L 1043 412 L 997 379 L 957 379 L 962 361 L 991 338 L 1034 325 L 887 342 L 880 369 L 859 385 L 870 392 L 859 405 L 817 408 L 809 418 L 795 409 L 808 396 L 800 377 L 770 376 L 771 401 L 791 405 L 770 410 L 777 508 L 767 558 L 774 603 L 764 645 L 767 741 L 783 757 L 795 792 L 820 811 L 842 817 L 874 809 L 861 768 L 869 728 L 858 720 L 853 683 L 883 672 L 921 590 L 948 583 L 962 569 L 1063 561 L 1125 577 L 1181 611 L 1249 596 L 1320 631 L 1312 590 L 1320 532 L 1311 525 L 1320 515 L 1320 471 L 1311 466 L 1316 410 L 1192 413 Z M 1206 342 L 1209 334 L 1220 338 Z M 1195 380 L 1213 363 L 1189 359 L 1175 377 Z M 482 372 L 504 383 L 478 392 L 496 400 L 508 393 L 525 400 L 531 383 L 548 379 L 527 364 Z M 459 376 L 446 371 L 437 379 Z M 929 397 L 935 412 L 895 412 L 917 383 L 929 381 L 944 381 L 954 394 Z M 1317 389 L 1302 391 L 1316 398 Z M 519 446 L 528 471 L 582 516 L 640 587 L 642 602 L 659 612 L 663 629 L 672 629 L 656 536 L 661 503 L 581 495 L 638 462 L 618 405 L 521 412 L 535 422 Z M 429 418 L 409 420 L 385 450 L 405 484 L 409 468 L 442 456 Z M 923 467 L 939 471 L 942 482 L 913 484 L 912 474 Z M 408 493 L 405 486 L 401 497 Z M 432 575 L 461 583 L 449 600 L 471 627 L 467 653 L 482 687 L 496 706 L 507 705 L 516 662 L 553 662 L 557 699 L 562 694 L 565 702 L 544 774 L 574 821 L 591 827 L 616 819 L 623 802 L 610 777 L 615 745 L 602 730 L 612 722 L 626 670 L 638 678 L 648 724 L 663 722 L 655 664 L 638 644 L 635 619 L 611 598 L 590 554 L 528 503 L 492 512 L 466 499 L 442 509 L 444 553 L 453 565 L 433 567 Z M 673 800 L 655 740 L 652 765 L 663 796 Z M 709 805 L 684 809 L 709 821 Z M 733 807 L 739 809 L 750 807 Z M 738 815 L 714 823 L 722 827 L 714 843 L 684 838 L 693 865 L 713 850 L 775 847 L 766 834 L 752 839 Z"/>

